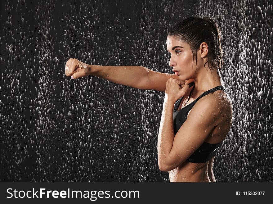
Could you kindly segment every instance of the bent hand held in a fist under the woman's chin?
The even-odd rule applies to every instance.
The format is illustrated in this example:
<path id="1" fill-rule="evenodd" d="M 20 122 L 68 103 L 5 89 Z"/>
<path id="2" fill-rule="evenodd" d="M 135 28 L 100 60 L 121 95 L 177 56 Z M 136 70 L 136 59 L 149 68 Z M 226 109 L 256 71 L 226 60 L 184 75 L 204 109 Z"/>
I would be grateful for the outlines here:
<path id="1" fill-rule="evenodd" d="M 165 101 L 175 103 L 179 98 L 185 96 L 190 86 L 180 79 L 170 78 L 166 82 Z"/>

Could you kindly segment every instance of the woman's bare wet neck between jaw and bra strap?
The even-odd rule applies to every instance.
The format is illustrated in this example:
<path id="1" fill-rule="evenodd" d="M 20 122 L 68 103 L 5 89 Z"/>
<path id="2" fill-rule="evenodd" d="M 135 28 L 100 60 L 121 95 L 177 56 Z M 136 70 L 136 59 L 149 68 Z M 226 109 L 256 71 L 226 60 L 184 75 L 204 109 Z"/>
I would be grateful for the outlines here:
<path id="1" fill-rule="evenodd" d="M 194 78 L 195 88 L 196 90 L 207 91 L 212 89 L 216 86 L 224 85 L 221 74 L 217 74 L 217 70 L 213 70 L 213 72 L 206 67 L 207 70 L 204 68 L 202 71 L 197 73 Z"/>

